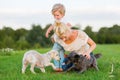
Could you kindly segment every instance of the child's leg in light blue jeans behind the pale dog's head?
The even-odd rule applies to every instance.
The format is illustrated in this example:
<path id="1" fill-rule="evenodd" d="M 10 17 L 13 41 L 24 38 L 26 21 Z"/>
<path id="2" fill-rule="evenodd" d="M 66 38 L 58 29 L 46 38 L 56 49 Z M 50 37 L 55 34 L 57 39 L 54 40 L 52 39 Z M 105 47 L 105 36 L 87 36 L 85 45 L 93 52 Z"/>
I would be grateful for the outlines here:
<path id="1" fill-rule="evenodd" d="M 62 63 L 63 63 L 63 60 L 64 60 L 64 52 L 65 51 L 64 51 L 63 47 L 58 43 L 54 43 L 53 50 L 57 50 L 59 52 L 59 56 L 61 58 L 60 61 L 54 60 L 54 65 L 57 68 L 62 68 Z"/>

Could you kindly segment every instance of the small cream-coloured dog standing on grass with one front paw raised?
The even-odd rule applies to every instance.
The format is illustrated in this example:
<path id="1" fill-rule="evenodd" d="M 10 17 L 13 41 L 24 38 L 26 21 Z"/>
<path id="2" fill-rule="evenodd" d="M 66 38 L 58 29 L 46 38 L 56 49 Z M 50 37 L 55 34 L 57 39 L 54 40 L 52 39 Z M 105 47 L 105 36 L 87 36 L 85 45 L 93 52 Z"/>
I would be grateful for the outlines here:
<path id="1" fill-rule="evenodd" d="M 56 69 L 53 63 L 50 61 L 52 59 L 60 60 L 59 53 L 55 50 L 51 50 L 46 54 L 40 54 L 35 50 L 27 51 L 22 60 L 22 73 L 25 73 L 27 66 L 30 64 L 30 71 L 35 74 L 34 67 L 40 68 L 40 70 L 45 73 L 46 66 L 52 66 L 53 69 Z"/>

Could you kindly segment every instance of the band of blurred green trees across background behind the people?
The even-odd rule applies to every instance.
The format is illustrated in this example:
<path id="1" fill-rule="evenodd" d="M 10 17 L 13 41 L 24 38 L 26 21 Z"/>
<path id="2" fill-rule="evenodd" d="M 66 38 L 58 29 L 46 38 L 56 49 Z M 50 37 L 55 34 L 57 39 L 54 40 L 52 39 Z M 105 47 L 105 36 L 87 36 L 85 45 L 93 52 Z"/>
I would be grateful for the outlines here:
<path id="1" fill-rule="evenodd" d="M 51 24 L 46 25 L 44 29 L 40 25 L 32 25 L 32 29 L 26 30 L 24 28 L 13 30 L 10 27 L 4 27 L 0 30 L 0 49 L 30 49 L 40 47 L 51 47 L 51 31 L 49 38 L 45 37 L 45 33 Z M 79 26 L 73 26 L 72 29 L 79 29 Z M 102 27 L 98 32 L 93 32 L 91 26 L 86 26 L 84 31 L 99 44 L 118 44 L 120 43 L 120 25 L 113 25 L 112 27 Z"/>

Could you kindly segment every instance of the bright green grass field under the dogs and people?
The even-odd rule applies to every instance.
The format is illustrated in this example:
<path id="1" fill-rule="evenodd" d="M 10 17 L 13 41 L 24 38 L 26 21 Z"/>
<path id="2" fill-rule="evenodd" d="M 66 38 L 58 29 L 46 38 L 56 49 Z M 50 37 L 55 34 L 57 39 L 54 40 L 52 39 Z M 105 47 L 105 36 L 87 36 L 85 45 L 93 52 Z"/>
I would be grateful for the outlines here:
<path id="1" fill-rule="evenodd" d="M 37 49 L 45 53 L 50 49 Z M 21 74 L 22 57 L 24 51 L 14 51 L 10 56 L 0 56 L 0 80 L 120 80 L 120 44 L 97 45 L 94 53 L 102 53 L 97 59 L 100 71 L 88 69 L 83 74 L 76 72 L 57 73 L 51 67 L 46 67 L 46 73 L 35 68 L 37 74 L 32 74 L 27 68 L 25 74 Z M 113 72 L 111 72 L 113 64 Z"/>

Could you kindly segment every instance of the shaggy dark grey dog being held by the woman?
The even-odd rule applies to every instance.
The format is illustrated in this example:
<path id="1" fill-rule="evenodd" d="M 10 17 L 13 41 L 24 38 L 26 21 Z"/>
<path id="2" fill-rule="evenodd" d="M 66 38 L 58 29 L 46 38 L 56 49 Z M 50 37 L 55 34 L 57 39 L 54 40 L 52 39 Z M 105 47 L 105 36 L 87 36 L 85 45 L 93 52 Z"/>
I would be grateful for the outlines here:
<path id="1" fill-rule="evenodd" d="M 101 54 L 93 55 L 91 53 L 90 56 L 91 58 L 87 59 L 83 55 L 78 55 L 76 52 L 71 52 L 68 55 L 68 61 L 66 62 L 66 64 L 69 64 L 70 62 L 72 62 L 73 65 L 70 68 L 68 68 L 66 71 L 75 70 L 78 73 L 83 73 L 88 68 L 92 68 L 92 67 L 98 71 L 99 69 L 97 67 L 96 59 L 101 57 Z"/>

